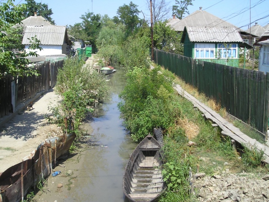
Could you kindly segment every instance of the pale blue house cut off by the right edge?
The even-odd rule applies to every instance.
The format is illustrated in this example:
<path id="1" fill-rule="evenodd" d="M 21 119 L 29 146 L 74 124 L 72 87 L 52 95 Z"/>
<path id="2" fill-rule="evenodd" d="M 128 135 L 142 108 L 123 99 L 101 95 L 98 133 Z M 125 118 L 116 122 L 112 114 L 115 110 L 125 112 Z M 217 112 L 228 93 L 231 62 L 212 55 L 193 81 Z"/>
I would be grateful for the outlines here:
<path id="1" fill-rule="evenodd" d="M 254 45 L 260 46 L 259 71 L 269 72 L 269 28 Z"/>

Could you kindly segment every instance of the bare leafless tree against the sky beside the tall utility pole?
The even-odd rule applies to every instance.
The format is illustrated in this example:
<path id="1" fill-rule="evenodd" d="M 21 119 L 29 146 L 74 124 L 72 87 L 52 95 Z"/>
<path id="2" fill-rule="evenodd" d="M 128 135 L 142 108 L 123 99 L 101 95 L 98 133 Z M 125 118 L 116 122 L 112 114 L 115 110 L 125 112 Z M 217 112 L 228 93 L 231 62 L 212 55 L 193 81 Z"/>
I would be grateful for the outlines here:
<path id="1" fill-rule="evenodd" d="M 148 0 L 148 6 L 150 10 L 150 1 Z M 152 19 L 153 25 L 157 21 L 163 21 L 167 19 L 168 13 L 171 7 L 169 6 L 169 2 L 165 0 L 152 0 Z"/>

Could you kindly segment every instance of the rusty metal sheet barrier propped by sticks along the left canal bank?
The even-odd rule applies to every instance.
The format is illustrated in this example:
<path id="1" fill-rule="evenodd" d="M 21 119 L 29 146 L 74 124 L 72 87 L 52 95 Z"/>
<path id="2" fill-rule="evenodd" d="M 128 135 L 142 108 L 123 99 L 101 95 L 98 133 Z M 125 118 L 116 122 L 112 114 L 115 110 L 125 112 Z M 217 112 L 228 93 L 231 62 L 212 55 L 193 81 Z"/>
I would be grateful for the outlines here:
<path id="1" fill-rule="evenodd" d="M 25 157 L 21 163 L 11 166 L 0 173 L 0 202 L 21 201 L 23 174 L 24 196 L 31 186 L 36 186 L 43 178 L 48 177 L 55 166 L 55 160 L 66 154 L 76 134 L 68 133 L 42 142 L 37 149 Z M 23 168 L 23 172 L 21 171 Z"/>

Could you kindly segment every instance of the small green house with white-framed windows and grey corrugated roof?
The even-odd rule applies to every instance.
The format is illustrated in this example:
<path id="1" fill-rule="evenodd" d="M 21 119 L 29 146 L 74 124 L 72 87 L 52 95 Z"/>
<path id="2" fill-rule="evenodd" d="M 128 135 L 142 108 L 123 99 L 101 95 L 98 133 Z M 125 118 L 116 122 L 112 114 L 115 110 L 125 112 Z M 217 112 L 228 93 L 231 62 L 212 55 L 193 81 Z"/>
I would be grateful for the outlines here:
<path id="1" fill-rule="evenodd" d="M 235 27 L 185 26 L 181 42 L 184 56 L 234 67 L 239 66 L 240 45 L 249 46 Z"/>

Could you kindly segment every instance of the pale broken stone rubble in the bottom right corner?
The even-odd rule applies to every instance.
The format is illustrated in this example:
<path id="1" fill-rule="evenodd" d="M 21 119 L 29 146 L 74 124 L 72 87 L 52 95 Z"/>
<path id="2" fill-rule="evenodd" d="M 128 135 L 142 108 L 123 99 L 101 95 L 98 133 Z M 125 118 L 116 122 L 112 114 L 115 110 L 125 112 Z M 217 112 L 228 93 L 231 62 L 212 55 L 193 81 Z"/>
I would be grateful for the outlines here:
<path id="1" fill-rule="evenodd" d="M 253 173 L 231 174 L 229 169 L 220 175 L 196 174 L 196 196 L 204 202 L 269 202 L 269 175 Z"/>

